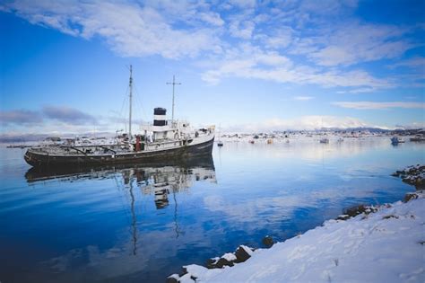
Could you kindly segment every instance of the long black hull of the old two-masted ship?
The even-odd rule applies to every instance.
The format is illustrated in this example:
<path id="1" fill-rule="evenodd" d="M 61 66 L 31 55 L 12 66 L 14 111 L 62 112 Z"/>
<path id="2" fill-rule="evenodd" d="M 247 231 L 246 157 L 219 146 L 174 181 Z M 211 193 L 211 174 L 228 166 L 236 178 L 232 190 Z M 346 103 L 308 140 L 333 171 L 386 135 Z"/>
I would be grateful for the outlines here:
<path id="1" fill-rule="evenodd" d="M 34 167 L 87 167 L 108 164 L 164 164 L 175 163 L 187 158 L 212 154 L 214 139 L 192 146 L 164 149 L 160 151 L 139 151 L 131 155 L 43 155 L 29 149 L 25 161 Z"/>

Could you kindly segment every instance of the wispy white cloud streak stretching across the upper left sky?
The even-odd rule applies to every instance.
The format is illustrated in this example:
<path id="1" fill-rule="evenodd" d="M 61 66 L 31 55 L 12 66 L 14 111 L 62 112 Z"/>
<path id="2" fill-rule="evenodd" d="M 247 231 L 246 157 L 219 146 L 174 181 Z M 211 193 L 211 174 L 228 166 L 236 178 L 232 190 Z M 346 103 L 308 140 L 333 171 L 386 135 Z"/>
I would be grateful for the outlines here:
<path id="1" fill-rule="evenodd" d="M 160 55 L 167 58 L 196 57 L 217 50 L 220 40 L 207 27 L 178 29 L 149 6 L 127 2 L 19 1 L 10 11 L 34 24 L 91 39 L 99 35 L 111 49 L 124 57 Z M 198 18 L 221 25 L 216 13 L 199 13 Z"/>

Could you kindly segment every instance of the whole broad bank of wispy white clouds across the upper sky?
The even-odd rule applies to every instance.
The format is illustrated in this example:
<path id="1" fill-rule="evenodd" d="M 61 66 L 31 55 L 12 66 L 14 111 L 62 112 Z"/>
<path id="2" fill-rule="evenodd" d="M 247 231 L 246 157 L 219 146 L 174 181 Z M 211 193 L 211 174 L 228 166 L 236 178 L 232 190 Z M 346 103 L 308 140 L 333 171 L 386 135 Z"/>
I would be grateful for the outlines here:
<path id="1" fill-rule="evenodd" d="M 0 4 L 0 9 L 34 24 L 87 40 L 100 37 L 122 57 L 189 57 L 198 60 L 195 66 L 201 66 L 201 59 L 209 61 L 200 74 L 210 84 L 243 77 L 355 88 L 348 93 L 394 87 L 395 79 L 346 66 L 401 57 L 418 45 L 408 39 L 412 27 L 360 22 L 354 17 L 356 7 L 355 0 L 274 4 L 21 0 Z M 418 57 L 392 67 L 421 65 L 423 58 Z"/>

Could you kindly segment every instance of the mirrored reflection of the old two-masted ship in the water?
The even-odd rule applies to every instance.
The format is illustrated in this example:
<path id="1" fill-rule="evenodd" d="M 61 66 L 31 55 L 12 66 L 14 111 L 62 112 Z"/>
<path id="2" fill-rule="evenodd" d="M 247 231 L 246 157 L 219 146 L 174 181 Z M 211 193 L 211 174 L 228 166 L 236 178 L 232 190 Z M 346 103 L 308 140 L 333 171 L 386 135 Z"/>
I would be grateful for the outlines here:
<path id="1" fill-rule="evenodd" d="M 108 167 L 76 167 L 76 168 L 30 168 L 25 174 L 29 183 L 37 181 L 75 181 L 83 179 L 114 178 L 121 175 L 123 185 L 129 188 L 131 207 L 134 207 L 134 180 L 143 195 L 154 195 L 157 209 L 169 206 L 169 195 L 176 200 L 176 193 L 187 191 L 194 181 L 216 182 L 212 156 L 191 158 L 180 162 L 167 164 L 124 164 Z M 177 201 L 174 201 L 177 206 Z"/>

